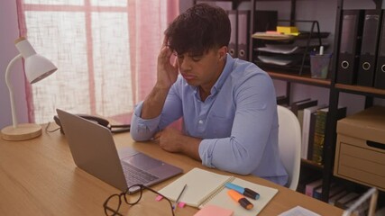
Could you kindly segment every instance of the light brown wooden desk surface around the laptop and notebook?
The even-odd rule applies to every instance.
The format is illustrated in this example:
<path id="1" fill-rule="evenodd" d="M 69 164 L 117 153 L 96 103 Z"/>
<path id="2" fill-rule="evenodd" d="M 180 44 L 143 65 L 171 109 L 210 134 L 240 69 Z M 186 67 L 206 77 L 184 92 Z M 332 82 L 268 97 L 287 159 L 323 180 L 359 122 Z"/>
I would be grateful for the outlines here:
<path id="1" fill-rule="evenodd" d="M 54 124 L 53 124 L 54 125 Z M 51 124 L 50 128 L 55 127 Z M 43 130 L 45 129 L 43 126 Z M 138 143 L 129 133 L 115 134 L 117 148 L 132 146 L 152 157 L 175 164 L 188 172 L 199 167 L 229 175 L 202 166 L 201 163 L 179 154 L 161 150 L 153 143 Z M 278 215 L 301 205 L 321 215 L 342 215 L 343 210 L 310 198 L 252 175 L 234 175 L 256 184 L 279 189 L 279 193 L 261 211 L 260 215 Z M 178 177 L 178 176 L 177 176 Z M 159 190 L 175 178 L 152 186 Z M 103 202 L 119 193 L 75 166 L 67 141 L 60 131 L 42 132 L 42 136 L 26 141 L 0 139 L 0 212 L 2 215 L 104 215 Z M 154 202 L 145 192 L 141 202 Z M 150 197 L 151 196 L 151 197 Z M 178 209 L 176 215 L 193 215 L 197 209 Z M 128 212 L 128 215 L 134 215 Z M 142 214 L 141 215 L 146 215 Z M 156 215 L 153 212 L 148 215 Z M 164 215 L 164 214 L 163 214 Z"/>

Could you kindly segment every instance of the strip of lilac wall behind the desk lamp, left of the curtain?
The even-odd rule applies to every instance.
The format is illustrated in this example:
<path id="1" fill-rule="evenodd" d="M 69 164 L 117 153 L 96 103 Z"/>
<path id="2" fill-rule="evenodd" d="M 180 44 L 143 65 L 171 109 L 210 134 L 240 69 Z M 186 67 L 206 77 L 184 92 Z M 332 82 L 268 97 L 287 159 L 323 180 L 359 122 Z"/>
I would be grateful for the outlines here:
<path id="1" fill-rule="evenodd" d="M 14 40 L 19 38 L 16 1 L 0 1 L 0 129 L 12 125 L 11 103 L 9 91 L 5 85 L 5 69 L 9 61 L 18 51 Z M 11 84 L 14 85 L 14 102 L 18 121 L 27 122 L 27 105 L 25 99 L 24 74 L 22 61 L 19 60 L 11 68 Z"/>

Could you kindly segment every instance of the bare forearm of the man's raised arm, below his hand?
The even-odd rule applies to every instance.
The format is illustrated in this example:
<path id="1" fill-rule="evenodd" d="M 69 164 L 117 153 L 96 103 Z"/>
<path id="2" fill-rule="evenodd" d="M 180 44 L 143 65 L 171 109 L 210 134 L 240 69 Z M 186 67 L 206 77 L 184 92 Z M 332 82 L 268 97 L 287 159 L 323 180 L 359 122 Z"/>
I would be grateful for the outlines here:
<path id="1" fill-rule="evenodd" d="M 156 85 L 152 88 L 151 93 L 143 102 L 142 119 L 153 119 L 160 115 L 169 90 L 170 88 L 160 88 Z"/>

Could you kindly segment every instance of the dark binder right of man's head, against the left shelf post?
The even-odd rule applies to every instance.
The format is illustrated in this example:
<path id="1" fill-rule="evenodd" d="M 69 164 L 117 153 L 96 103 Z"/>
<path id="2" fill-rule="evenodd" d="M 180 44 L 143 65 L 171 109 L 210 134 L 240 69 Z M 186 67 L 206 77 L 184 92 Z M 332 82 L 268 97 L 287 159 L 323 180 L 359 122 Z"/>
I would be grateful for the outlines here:
<path id="1" fill-rule="evenodd" d="M 250 11 L 238 11 L 238 58 L 248 60 L 249 57 L 249 31 L 250 31 Z"/>

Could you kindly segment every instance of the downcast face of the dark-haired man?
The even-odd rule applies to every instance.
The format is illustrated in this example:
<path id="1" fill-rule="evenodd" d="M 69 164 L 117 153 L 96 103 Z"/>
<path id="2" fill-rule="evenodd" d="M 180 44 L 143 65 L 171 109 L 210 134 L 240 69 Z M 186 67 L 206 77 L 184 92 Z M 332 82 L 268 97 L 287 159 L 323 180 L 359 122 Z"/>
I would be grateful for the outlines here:
<path id="1" fill-rule="evenodd" d="M 180 74 L 188 85 L 211 89 L 225 66 L 226 48 L 209 49 L 203 55 L 177 55 Z"/>

